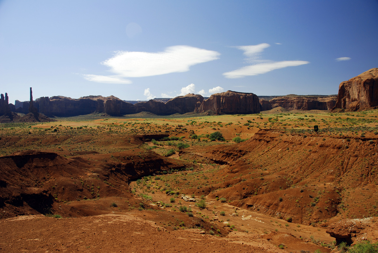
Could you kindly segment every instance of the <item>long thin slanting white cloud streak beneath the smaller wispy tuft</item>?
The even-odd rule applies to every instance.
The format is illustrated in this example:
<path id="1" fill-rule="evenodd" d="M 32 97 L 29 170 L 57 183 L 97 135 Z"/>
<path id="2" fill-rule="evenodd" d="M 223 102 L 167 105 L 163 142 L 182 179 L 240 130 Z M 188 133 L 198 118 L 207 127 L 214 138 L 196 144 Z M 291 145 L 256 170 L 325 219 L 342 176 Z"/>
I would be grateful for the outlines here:
<path id="1" fill-rule="evenodd" d="M 282 62 L 270 62 L 260 63 L 256 65 L 246 66 L 234 71 L 223 73 L 226 78 L 240 78 L 245 76 L 257 76 L 259 74 L 268 73 L 274 69 L 286 68 L 290 66 L 304 65 L 310 62 L 306 61 L 282 61 Z"/>

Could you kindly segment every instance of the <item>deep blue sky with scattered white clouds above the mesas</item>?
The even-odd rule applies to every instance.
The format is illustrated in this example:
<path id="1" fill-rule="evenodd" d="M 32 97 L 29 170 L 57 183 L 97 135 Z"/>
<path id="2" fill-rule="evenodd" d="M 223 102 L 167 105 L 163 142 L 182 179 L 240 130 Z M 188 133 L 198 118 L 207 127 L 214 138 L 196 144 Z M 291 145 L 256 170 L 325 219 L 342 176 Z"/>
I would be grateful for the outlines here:
<path id="1" fill-rule="evenodd" d="M 0 0 L 0 93 L 337 94 L 378 67 L 378 2 Z"/>

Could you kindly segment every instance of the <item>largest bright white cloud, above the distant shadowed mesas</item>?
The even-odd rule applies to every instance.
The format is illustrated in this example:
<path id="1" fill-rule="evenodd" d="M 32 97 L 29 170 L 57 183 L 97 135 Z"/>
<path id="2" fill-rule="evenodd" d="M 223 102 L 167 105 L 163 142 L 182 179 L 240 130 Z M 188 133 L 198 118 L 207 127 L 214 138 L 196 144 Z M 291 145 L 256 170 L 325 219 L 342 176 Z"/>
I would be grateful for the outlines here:
<path id="1" fill-rule="evenodd" d="M 102 64 L 122 77 L 146 77 L 186 72 L 190 66 L 216 60 L 219 55 L 216 51 L 192 46 L 170 46 L 156 53 L 119 51 Z"/>

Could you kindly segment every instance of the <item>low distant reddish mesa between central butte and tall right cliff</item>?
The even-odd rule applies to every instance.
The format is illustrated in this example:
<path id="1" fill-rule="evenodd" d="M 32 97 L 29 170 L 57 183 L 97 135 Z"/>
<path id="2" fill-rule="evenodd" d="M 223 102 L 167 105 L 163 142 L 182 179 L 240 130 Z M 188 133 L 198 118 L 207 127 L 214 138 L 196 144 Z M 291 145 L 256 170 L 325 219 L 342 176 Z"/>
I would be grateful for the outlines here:
<path id="1" fill-rule="evenodd" d="M 261 103 L 261 102 L 260 102 Z M 264 102 L 265 103 L 265 102 Z M 336 103 L 336 96 L 309 97 L 309 96 L 282 96 L 269 100 L 271 108 L 283 107 L 291 110 L 331 110 Z"/>

